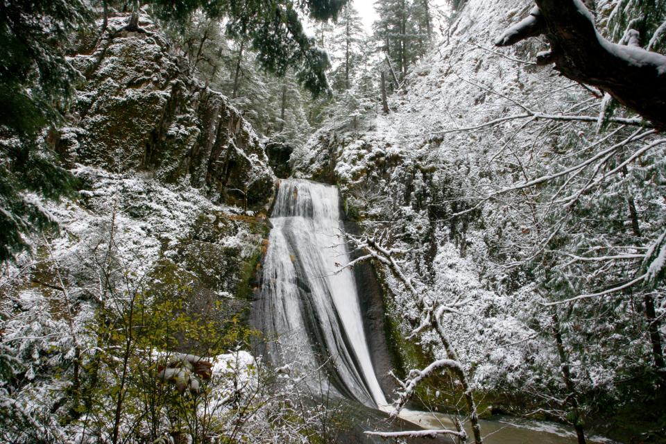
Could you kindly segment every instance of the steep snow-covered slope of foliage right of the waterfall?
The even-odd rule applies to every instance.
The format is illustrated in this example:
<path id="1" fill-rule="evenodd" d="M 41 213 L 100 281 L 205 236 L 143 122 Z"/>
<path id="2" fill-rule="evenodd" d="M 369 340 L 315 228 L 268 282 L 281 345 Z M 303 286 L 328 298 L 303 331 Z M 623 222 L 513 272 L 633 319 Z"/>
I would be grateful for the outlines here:
<path id="1" fill-rule="evenodd" d="M 389 98 L 389 114 L 377 104 L 358 129 L 330 122 L 291 159 L 300 176 L 339 183 L 364 232 L 404 252 L 396 259 L 409 280 L 466 300 L 443 323 L 475 388 L 578 422 L 599 400 L 628 399 L 626 378 L 647 372 L 652 384 L 663 366 L 654 277 L 663 277 L 666 139 L 530 62 L 546 49 L 539 42 L 495 49 L 531 6 L 466 2 L 407 92 Z M 383 275 L 409 332 L 422 309 Z M 436 335 L 421 342 L 446 357 Z"/>

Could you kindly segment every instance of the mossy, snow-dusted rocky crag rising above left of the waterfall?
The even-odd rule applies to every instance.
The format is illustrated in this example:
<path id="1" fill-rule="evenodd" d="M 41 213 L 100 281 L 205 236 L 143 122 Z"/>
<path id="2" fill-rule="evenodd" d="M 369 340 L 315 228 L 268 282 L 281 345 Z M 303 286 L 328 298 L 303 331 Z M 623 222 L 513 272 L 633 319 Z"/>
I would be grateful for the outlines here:
<path id="1" fill-rule="evenodd" d="M 188 178 L 230 205 L 265 205 L 275 176 L 250 124 L 225 96 L 181 69 L 148 16 L 139 21 L 144 32 L 116 31 L 125 23 L 110 19 L 92 54 L 82 49 L 71 58 L 85 81 L 56 137 L 67 142 L 60 151 L 72 163 L 150 171 L 165 183 Z"/>

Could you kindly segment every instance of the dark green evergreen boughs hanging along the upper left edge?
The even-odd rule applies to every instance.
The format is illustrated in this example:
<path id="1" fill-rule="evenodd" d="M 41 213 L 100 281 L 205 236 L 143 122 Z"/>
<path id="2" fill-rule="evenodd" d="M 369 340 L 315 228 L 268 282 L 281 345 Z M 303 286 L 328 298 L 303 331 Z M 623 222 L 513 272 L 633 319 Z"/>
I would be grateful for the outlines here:
<path id="1" fill-rule="evenodd" d="M 56 121 L 77 72 L 63 50 L 90 13 L 79 0 L 8 0 L 0 6 L 0 261 L 26 246 L 24 234 L 53 225 L 30 192 L 56 197 L 73 179 L 37 135 Z"/>

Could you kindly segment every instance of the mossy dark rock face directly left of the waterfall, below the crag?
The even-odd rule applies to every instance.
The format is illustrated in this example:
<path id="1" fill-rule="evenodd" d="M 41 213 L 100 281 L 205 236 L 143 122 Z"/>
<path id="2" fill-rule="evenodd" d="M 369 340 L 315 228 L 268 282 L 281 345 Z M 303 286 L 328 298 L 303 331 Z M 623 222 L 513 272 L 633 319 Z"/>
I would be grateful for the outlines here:
<path id="1" fill-rule="evenodd" d="M 190 318 L 213 323 L 224 341 L 248 341 L 253 278 L 267 233 L 263 217 L 199 214 L 187 237 L 164 247 L 149 279 L 151 297 L 175 304 Z M 178 334 L 178 350 L 202 352 L 203 343 L 186 338 L 185 332 Z"/>

